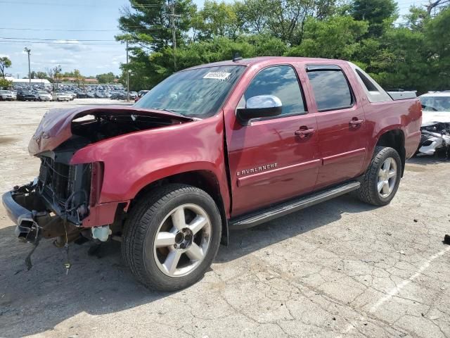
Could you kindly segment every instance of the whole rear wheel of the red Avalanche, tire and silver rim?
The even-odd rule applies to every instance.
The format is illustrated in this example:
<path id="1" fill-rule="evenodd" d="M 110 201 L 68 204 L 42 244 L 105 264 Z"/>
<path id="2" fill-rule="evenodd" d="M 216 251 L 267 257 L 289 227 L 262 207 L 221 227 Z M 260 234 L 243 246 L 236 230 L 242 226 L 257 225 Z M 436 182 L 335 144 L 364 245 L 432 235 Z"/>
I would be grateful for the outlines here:
<path id="1" fill-rule="evenodd" d="M 390 204 L 399 188 L 400 177 L 399 153 L 390 147 L 377 146 L 356 196 L 374 206 Z"/>

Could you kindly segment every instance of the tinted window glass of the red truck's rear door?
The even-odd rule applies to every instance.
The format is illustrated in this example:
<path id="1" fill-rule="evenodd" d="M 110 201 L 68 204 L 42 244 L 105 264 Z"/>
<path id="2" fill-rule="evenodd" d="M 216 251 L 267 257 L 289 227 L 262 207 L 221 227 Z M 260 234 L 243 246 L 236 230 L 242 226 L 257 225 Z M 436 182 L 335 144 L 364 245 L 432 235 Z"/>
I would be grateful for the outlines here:
<path id="1" fill-rule="evenodd" d="M 319 111 L 349 108 L 353 96 L 342 70 L 311 70 L 308 72 Z"/>

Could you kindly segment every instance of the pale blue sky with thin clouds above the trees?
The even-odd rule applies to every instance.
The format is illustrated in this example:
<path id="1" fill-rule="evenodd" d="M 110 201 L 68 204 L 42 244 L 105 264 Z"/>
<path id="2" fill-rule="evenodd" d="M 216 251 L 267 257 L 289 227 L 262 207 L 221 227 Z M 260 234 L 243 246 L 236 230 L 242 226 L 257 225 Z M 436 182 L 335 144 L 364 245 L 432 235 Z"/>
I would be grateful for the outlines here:
<path id="1" fill-rule="evenodd" d="M 194 2 L 201 7 L 204 0 Z M 404 15 L 411 4 L 423 2 L 399 0 L 399 12 Z M 13 77 L 27 76 L 24 48 L 28 47 L 34 71 L 61 65 L 63 72 L 76 68 L 85 76 L 108 72 L 120 75 L 119 66 L 126 61 L 126 52 L 114 36 L 120 32 L 117 30 L 120 8 L 128 3 L 128 0 L 0 0 L 0 56 L 8 56 L 13 63 L 6 73 Z"/>

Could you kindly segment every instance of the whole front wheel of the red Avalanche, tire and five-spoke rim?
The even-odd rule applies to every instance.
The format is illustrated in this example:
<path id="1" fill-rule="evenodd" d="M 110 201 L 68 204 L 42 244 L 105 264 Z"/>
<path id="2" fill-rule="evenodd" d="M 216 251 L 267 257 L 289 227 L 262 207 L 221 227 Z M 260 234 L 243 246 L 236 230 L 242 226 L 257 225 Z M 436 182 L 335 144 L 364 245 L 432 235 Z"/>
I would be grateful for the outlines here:
<path id="1" fill-rule="evenodd" d="M 221 217 L 211 196 L 196 187 L 168 184 L 131 210 L 122 256 L 146 287 L 174 291 L 203 277 L 220 237 Z"/>

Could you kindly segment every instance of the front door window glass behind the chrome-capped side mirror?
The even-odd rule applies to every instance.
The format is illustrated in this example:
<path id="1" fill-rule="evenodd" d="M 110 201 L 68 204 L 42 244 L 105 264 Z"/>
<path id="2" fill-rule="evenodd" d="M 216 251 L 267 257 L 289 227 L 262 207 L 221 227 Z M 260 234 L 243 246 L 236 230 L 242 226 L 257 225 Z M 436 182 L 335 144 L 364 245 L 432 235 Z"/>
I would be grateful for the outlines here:
<path id="1" fill-rule="evenodd" d="M 290 65 L 276 65 L 261 70 L 250 82 L 239 107 L 245 107 L 245 101 L 258 95 L 274 95 L 281 99 L 281 115 L 305 113 L 302 91 Z"/>

